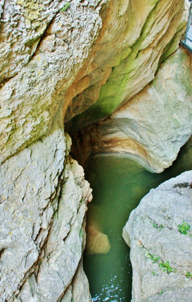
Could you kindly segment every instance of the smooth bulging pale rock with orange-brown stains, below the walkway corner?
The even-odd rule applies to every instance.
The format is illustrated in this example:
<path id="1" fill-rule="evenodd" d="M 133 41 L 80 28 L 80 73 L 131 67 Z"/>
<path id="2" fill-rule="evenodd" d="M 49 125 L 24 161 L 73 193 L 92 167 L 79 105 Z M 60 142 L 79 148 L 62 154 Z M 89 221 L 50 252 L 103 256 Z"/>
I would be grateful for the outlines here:
<path id="1" fill-rule="evenodd" d="M 191 134 L 191 56 L 179 48 L 136 97 L 106 121 L 76 134 L 73 148 L 82 157 L 81 164 L 91 153 L 115 153 L 138 160 L 152 172 L 162 172 Z"/>

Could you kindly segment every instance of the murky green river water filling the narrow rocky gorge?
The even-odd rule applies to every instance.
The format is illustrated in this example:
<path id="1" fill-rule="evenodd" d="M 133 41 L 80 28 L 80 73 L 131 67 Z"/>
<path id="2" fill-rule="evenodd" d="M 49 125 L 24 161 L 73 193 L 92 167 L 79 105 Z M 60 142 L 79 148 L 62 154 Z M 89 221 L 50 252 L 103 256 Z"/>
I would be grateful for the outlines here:
<path id="1" fill-rule="evenodd" d="M 84 270 L 93 301 L 130 302 L 132 267 L 130 249 L 122 237 L 130 212 L 151 188 L 192 169 L 190 143 L 181 148 L 177 160 L 161 174 L 146 171 L 131 159 L 97 156 L 85 168 L 85 177 L 93 189 L 88 206 L 88 223 L 95 220 L 108 236 L 107 254 L 84 255 Z"/>

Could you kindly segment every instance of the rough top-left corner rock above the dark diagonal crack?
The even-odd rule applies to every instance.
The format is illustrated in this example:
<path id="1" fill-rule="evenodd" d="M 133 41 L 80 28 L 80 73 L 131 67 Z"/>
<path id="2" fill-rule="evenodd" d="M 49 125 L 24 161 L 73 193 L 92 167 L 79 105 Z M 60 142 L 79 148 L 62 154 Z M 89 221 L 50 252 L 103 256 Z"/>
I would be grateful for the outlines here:
<path id="1" fill-rule="evenodd" d="M 21 71 L 66 1 L 2 0 L 0 82 Z"/>

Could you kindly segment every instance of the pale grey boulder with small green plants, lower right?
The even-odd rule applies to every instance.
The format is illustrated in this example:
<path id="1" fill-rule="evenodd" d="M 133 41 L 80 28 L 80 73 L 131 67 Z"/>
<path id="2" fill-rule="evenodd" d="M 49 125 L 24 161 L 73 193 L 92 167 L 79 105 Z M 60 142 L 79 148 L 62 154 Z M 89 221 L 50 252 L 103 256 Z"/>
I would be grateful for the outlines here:
<path id="1" fill-rule="evenodd" d="M 130 214 L 123 237 L 130 246 L 133 267 L 132 302 L 190 302 L 192 297 L 192 229 L 184 235 L 178 225 L 192 227 L 192 171 L 152 189 Z M 160 257 L 156 261 L 150 255 Z M 169 274 L 160 268 L 169 261 Z M 176 270 L 176 272 L 175 272 Z"/>

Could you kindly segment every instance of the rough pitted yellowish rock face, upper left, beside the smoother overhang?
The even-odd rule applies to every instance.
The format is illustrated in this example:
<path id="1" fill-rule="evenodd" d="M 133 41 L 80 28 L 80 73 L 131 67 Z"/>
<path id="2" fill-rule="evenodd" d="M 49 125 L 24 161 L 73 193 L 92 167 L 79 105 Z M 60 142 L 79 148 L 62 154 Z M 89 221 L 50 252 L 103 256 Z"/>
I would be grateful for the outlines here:
<path id="1" fill-rule="evenodd" d="M 102 25 L 99 12 L 104 2 L 96 0 L 81 3 L 73 0 L 67 11 L 60 12 L 59 9 L 65 3 L 63 0 L 18 0 L 17 3 L 5 0 L 5 12 L 1 20 L 5 28 L 2 35 L 5 36 L 4 31 L 7 36 L 10 31 L 12 34 L 5 37 L 5 49 L 2 47 L 10 65 L 4 56 L 2 62 L 5 63 L 6 77 L 13 76 L 15 72 L 16 75 L 5 81 L 0 89 L 0 162 L 53 131 L 58 125 L 63 126 L 64 106 L 68 106 L 65 92 L 98 35 Z M 17 19 L 16 27 L 10 21 L 14 18 Z M 29 18 L 34 19 L 30 21 Z M 35 22 L 40 23 L 39 32 L 34 29 Z M 24 28 L 24 32 L 15 41 L 14 36 L 18 37 L 21 28 Z M 36 37 L 32 49 L 22 46 L 30 39 L 33 42 Z M 41 41 L 37 47 L 39 37 Z M 30 59 L 33 47 L 37 49 Z M 30 53 L 27 53 L 27 49 Z M 11 59 L 12 56 L 16 59 Z M 7 71 L 7 68 L 12 71 Z"/>

